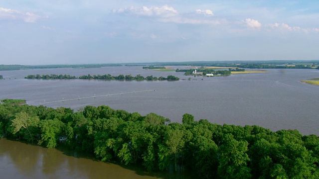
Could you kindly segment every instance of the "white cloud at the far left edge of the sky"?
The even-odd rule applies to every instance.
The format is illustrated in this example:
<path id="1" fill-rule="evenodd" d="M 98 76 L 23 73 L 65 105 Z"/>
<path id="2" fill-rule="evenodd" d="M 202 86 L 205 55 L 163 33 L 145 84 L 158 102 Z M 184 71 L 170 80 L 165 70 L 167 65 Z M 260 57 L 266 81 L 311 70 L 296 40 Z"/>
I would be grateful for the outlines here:
<path id="1" fill-rule="evenodd" d="M 35 22 L 41 16 L 30 12 L 23 13 L 18 10 L 0 7 L 0 18 L 22 19 L 25 22 Z"/>

